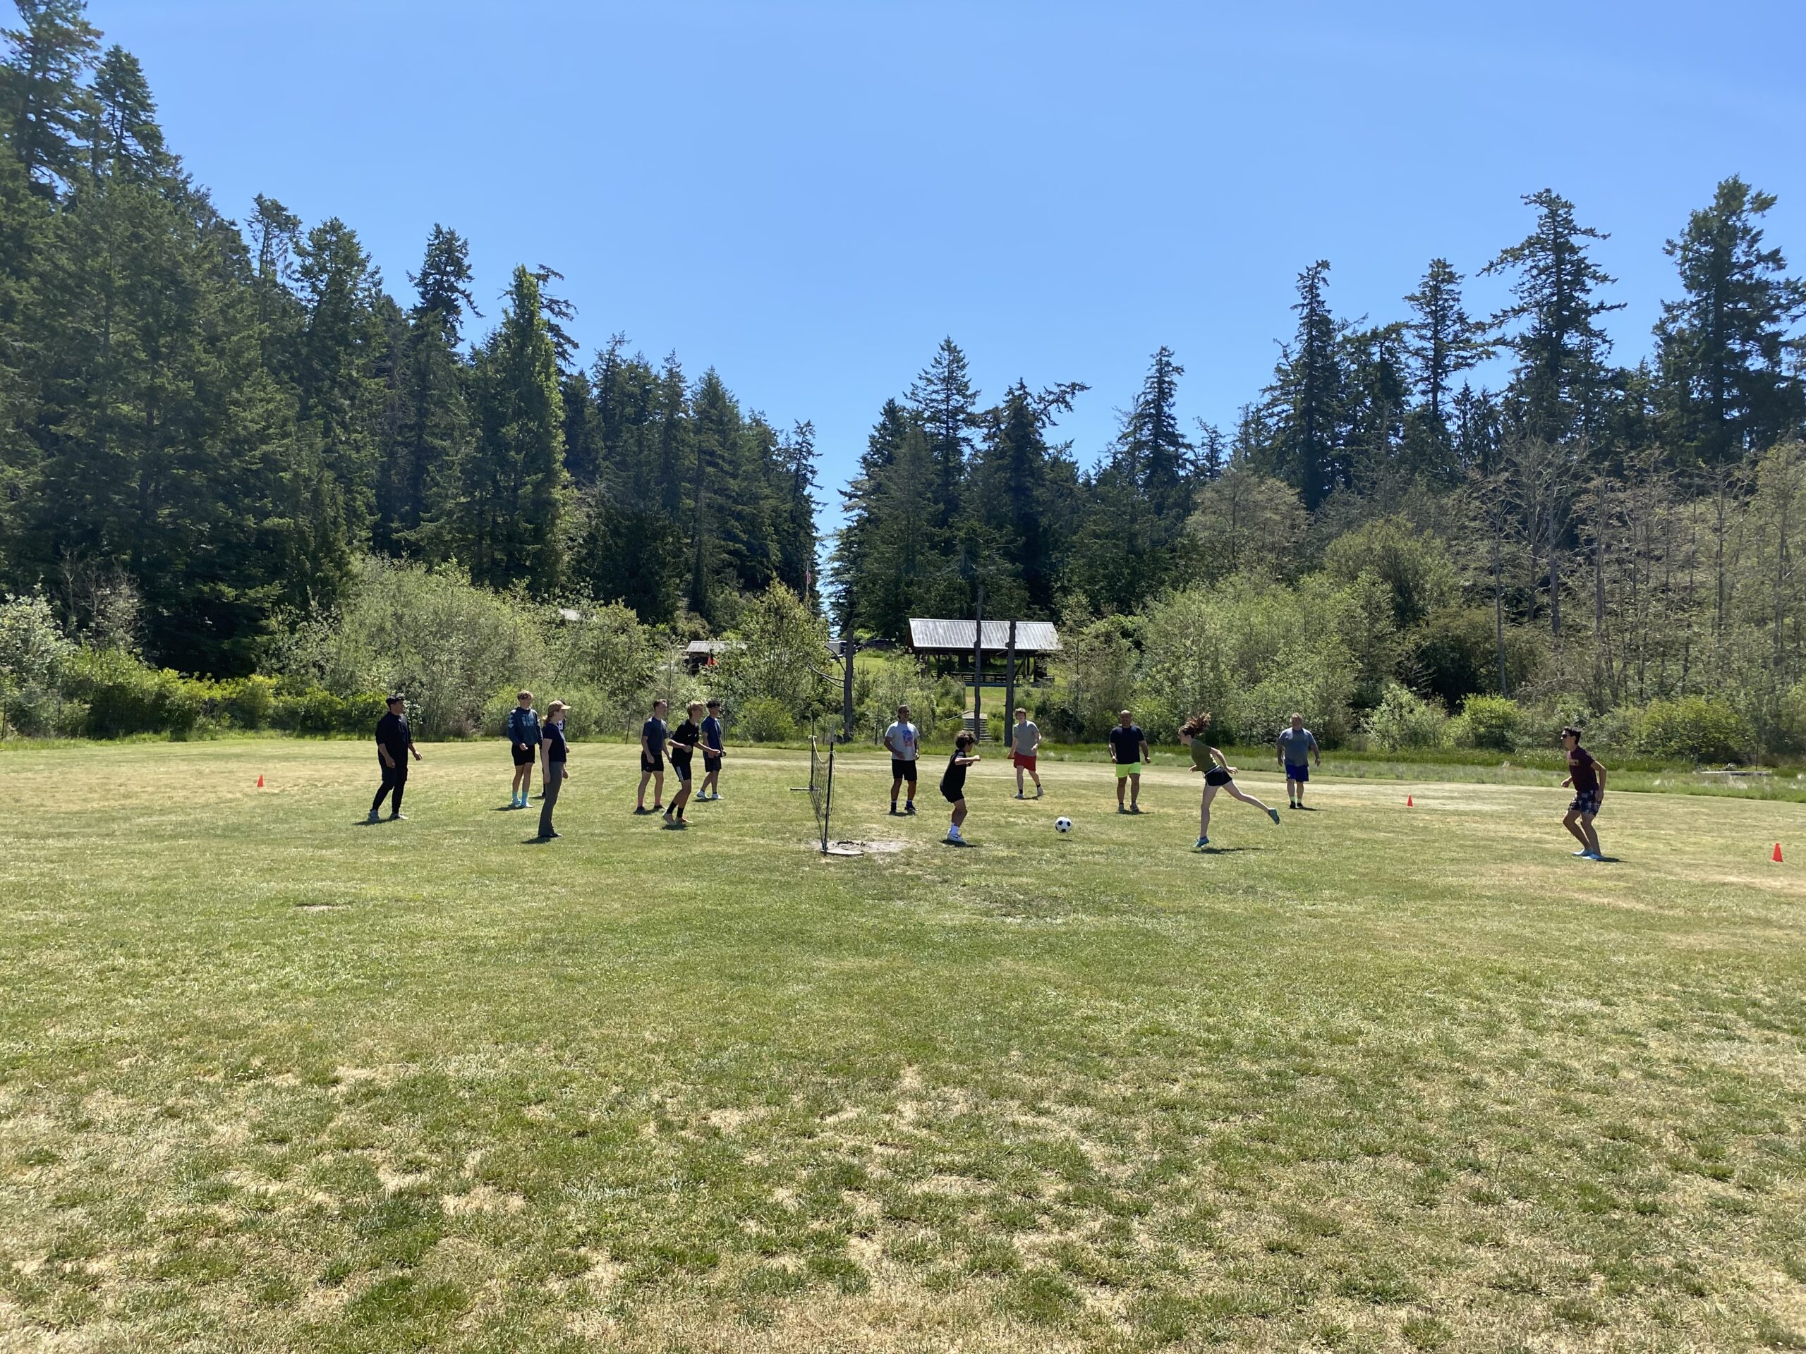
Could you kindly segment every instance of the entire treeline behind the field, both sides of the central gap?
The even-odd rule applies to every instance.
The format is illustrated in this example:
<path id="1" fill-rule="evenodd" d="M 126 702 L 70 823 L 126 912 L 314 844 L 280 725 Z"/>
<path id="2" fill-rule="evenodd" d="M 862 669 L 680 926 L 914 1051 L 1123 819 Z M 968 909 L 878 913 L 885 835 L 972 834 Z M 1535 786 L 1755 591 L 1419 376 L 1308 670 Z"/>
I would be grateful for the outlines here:
<path id="1" fill-rule="evenodd" d="M 988 616 L 1102 617 L 1143 655 L 1163 599 L 1324 578 L 1371 619 L 1344 635 L 1369 655 L 1351 719 L 1398 681 L 1450 708 L 1730 693 L 1766 728 L 1801 677 L 1806 283 L 1764 240 L 1773 195 L 1736 175 L 1676 222 L 1672 300 L 1634 365 L 1606 330 L 1606 236 L 1553 190 L 1481 267 L 1499 312 L 1470 314 L 1434 258 L 1398 318 L 1349 320 L 1311 262 L 1233 426 L 1179 421 L 1185 366 L 1159 347 L 1091 464 L 1058 428 L 1084 383 L 986 397 L 948 338 L 878 410 L 824 598 L 809 422 L 625 336 L 578 361 L 544 265 L 482 314 L 444 226 L 408 300 L 340 218 L 258 197 L 229 220 L 83 0 L 14 4 L 0 592 L 43 590 L 83 643 L 249 673 L 377 556 L 690 634 L 773 583 L 894 639 L 984 589 Z M 1494 356 L 1497 390 L 1474 383 Z"/>

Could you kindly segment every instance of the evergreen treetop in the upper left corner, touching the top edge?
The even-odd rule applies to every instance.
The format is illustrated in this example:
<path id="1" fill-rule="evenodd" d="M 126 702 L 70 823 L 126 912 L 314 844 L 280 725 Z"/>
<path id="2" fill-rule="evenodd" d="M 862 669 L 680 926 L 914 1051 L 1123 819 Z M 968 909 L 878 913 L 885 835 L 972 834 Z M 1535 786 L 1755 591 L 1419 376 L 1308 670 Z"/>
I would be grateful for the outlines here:
<path id="1" fill-rule="evenodd" d="M 14 4 L 20 27 L 0 31 L 9 49 L 0 65 L 0 119 L 25 177 L 51 195 L 79 164 L 78 143 L 90 107 L 81 81 L 101 34 L 87 22 L 85 0 Z"/>

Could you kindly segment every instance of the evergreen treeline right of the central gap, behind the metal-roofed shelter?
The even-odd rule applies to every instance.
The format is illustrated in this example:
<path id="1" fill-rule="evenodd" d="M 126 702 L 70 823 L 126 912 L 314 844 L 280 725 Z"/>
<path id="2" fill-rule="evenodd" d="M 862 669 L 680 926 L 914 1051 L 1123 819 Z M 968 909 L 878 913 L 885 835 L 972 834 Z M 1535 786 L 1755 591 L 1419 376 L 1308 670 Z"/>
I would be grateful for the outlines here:
<path id="1" fill-rule="evenodd" d="M 1802 673 L 1806 283 L 1764 240 L 1775 197 L 1732 175 L 1678 222 L 1672 300 L 1634 365 L 1604 327 L 1622 309 L 1593 258 L 1607 236 L 1553 190 L 1522 200 L 1530 233 L 1481 269 L 1508 285 L 1499 312 L 1472 316 L 1432 258 L 1400 318 L 1344 320 L 1317 260 L 1233 428 L 1179 422 L 1185 368 L 1161 347 L 1091 466 L 1057 437 L 1082 385 L 986 403 L 945 339 L 842 491 L 840 612 L 901 639 L 910 616 L 973 614 L 982 585 L 988 616 L 1120 617 L 1141 652 L 1163 599 L 1243 572 L 1369 610 L 1378 585 L 1391 677 L 1448 708 L 1712 693 L 1777 728 Z M 1494 356 L 1508 379 L 1476 386 Z"/>

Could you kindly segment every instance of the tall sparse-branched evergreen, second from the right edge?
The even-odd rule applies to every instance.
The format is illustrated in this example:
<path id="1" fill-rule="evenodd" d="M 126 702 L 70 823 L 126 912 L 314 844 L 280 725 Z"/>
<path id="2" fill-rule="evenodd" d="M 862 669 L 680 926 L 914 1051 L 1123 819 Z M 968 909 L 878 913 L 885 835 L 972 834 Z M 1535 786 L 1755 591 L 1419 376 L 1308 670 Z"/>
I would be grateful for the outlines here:
<path id="1" fill-rule="evenodd" d="M 1524 202 L 1537 209 L 1535 229 L 1499 251 L 1483 273 L 1515 274 L 1513 301 L 1494 316 L 1492 329 L 1517 354 L 1512 395 L 1526 435 L 1555 442 L 1597 430 L 1611 352 L 1600 318 L 1624 305 L 1598 300 L 1598 289 L 1615 278 L 1587 255 L 1587 240 L 1609 236 L 1577 224 L 1573 202 L 1548 188 Z"/>

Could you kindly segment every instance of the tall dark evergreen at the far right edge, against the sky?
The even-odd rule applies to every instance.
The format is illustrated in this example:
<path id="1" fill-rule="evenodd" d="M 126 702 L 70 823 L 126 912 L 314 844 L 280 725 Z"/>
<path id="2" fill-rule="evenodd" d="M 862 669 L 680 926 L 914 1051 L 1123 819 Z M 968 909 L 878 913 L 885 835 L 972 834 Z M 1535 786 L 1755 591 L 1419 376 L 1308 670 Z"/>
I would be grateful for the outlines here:
<path id="1" fill-rule="evenodd" d="M 1662 422 L 1672 450 L 1707 468 L 1764 451 L 1801 419 L 1799 374 L 1784 359 L 1806 282 L 1763 240 L 1773 206 L 1773 193 L 1732 175 L 1665 246 L 1683 298 L 1656 323 Z"/>

